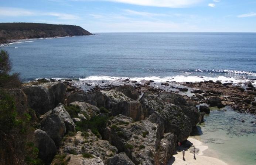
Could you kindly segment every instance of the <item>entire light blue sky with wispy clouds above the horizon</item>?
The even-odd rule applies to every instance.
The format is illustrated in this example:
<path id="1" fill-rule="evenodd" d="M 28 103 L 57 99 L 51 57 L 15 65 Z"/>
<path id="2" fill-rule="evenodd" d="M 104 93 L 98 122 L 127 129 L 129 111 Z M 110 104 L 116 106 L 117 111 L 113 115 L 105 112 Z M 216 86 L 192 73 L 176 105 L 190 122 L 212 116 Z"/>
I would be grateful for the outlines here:
<path id="1" fill-rule="evenodd" d="M 90 32 L 256 32 L 256 0 L 0 0 L 0 22 Z"/>

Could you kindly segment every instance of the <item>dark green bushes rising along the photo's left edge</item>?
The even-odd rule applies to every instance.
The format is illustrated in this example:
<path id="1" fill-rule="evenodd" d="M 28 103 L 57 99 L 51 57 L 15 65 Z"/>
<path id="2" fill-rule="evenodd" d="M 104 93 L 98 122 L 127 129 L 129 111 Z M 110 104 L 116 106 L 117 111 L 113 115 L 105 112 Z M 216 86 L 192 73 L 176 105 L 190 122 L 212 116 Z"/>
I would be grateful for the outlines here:
<path id="1" fill-rule="evenodd" d="M 11 62 L 6 51 L 0 51 L 0 165 L 43 164 L 38 149 L 31 142 L 33 110 L 18 111 L 11 90 L 21 86 L 17 73 L 10 75 Z"/>

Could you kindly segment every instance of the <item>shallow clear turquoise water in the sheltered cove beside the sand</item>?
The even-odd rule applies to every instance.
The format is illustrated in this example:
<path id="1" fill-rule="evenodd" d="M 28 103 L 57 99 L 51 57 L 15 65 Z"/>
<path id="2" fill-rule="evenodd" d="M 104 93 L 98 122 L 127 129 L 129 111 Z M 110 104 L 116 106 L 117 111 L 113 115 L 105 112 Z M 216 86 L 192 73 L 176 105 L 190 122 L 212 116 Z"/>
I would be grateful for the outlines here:
<path id="1" fill-rule="evenodd" d="M 256 121 L 256 116 L 239 114 L 231 109 L 213 110 L 205 116 L 205 123 L 199 125 L 202 134 L 195 138 L 230 165 L 255 165 L 256 125 L 252 121 Z"/>

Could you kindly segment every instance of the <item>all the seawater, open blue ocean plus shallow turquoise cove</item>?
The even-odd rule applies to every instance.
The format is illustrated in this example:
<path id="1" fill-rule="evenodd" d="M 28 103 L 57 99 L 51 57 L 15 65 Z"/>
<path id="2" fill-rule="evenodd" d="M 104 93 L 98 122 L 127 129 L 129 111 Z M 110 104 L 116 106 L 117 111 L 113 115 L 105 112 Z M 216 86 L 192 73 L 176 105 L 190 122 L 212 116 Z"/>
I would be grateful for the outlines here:
<path id="1" fill-rule="evenodd" d="M 13 72 L 19 72 L 23 81 L 72 78 L 111 83 L 130 78 L 238 83 L 256 79 L 256 33 L 97 33 L 22 40 L 0 49 L 10 53 Z M 199 125 L 202 133 L 196 138 L 228 164 L 254 165 L 256 125 L 251 122 L 255 119 L 230 109 L 213 110 Z"/>

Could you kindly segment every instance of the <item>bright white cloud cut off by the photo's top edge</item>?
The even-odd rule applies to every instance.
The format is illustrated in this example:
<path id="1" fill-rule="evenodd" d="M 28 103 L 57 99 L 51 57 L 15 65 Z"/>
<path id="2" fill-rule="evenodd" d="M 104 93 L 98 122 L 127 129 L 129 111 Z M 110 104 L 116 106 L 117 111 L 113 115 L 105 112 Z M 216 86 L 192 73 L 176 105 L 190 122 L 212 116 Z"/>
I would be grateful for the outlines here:
<path id="1" fill-rule="evenodd" d="M 69 1 L 88 1 L 88 0 L 69 0 Z M 203 0 L 95 0 L 95 1 L 110 1 L 116 3 L 134 4 L 140 6 L 154 6 L 154 7 L 170 7 L 182 8 L 191 7 Z"/>

